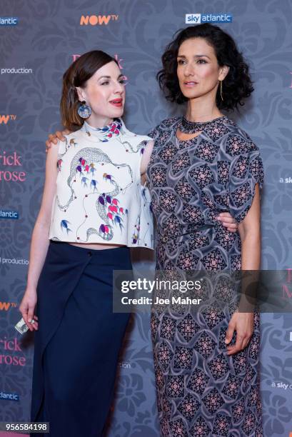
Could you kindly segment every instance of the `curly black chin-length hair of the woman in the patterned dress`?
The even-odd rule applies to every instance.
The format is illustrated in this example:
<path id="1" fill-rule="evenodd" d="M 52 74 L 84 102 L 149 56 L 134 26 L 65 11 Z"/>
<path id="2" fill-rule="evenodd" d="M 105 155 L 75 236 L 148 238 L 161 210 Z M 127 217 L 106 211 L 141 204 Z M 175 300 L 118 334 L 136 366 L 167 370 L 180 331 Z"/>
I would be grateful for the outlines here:
<path id="1" fill-rule="evenodd" d="M 178 49 L 186 39 L 206 39 L 216 54 L 219 66 L 228 66 L 229 71 L 223 80 L 223 101 L 220 96 L 219 87 L 216 95 L 216 104 L 219 109 L 231 110 L 243 106 L 243 99 L 249 97 L 253 91 L 253 84 L 249 74 L 248 64 L 243 55 L 238 51 L 233 38 L 225 31 L 213 24 L 198 24 L 181 29 L 174 35 L 175 38 L 166 47 L 163 53 L 162 66 L 158 71 L 156 79 L 168 101 L 175 101 L 183 104 L 188 99 L 183 96 L 178 83 L 177 55 Z"/>

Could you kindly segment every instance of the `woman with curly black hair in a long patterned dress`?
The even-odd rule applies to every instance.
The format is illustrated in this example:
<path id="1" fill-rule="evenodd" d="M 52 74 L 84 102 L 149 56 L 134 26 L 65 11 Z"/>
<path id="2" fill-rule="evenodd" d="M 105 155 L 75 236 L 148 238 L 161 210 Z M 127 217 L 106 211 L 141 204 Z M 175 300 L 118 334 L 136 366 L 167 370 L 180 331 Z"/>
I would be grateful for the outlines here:
<path id="1" fill-rule="evenodd" d="M 221 113 L 251 95 L 248 66 L 231 36 L 211 24 L 178 31 L 162 64 L 161 89 L 168 101 L 186 102 L 186 112 L 150 134 L 156 268 L 166 276 L 211 271 L 213 280 L 210 286 L 207 276 L 193 293 L 205 296 L 198 311 L 153 308 L 161 436 L 263 436 L 258 313 L 238 306 L 230 276 L 223 275 L 260 268 L 261 157 L 248 134 Z M 236 218 L 236 233 L 216 220 L 222 211 Z"/>

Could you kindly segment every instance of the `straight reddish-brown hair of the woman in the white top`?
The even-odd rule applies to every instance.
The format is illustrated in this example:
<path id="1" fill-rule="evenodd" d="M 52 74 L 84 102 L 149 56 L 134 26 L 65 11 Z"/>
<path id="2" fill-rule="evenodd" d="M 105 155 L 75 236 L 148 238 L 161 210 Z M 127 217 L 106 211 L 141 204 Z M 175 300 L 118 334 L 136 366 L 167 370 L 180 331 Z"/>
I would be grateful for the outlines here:
<path id="1" fill-rule="evenodd" d="M 109 54 L 101 50 L 88 51 L 74 61 L 63 75 L 63 88 L 60 102 L 61 120 L 63 126 L 70 131 L 76 131 L 84 124 L 77 110 L 80 106 L 76 86 L 84 88 L 94 73 L 102 66 L 114 61 Z"/>

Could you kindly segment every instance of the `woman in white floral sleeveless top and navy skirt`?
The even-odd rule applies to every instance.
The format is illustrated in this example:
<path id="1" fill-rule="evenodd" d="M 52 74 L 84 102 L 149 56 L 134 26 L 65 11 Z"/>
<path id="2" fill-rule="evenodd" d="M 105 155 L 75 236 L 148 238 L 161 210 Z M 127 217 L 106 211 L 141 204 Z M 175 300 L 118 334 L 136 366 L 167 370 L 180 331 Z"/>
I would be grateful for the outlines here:
<path id="1" fill-rule="evenodd" d="M 151 139 L 126 129 L 124 101 L 119 66 L 103 51 L 64 74 L 61 118 L 74 132 L 47 155 L 20 306 L 36 331 L 31 421 L 49 422 L 52 437 L 101 436 L 129 321 L 112 312 L 113 271 L 131 270 L 130 247 L 153 246 L 140 181 Z"/>

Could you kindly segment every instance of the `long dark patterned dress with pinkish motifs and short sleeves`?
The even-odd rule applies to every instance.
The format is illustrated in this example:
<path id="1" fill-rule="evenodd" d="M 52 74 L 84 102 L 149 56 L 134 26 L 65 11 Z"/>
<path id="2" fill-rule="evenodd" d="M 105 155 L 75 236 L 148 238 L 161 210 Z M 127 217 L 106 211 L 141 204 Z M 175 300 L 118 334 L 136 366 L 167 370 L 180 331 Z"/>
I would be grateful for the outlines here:
<path id="1" fill-rule="evenodd" d="M 248 213 L 255 186 L 263 182 L 258 148 L 226 116 L 188 141 L 176 137 L 180 124 L 179 117 L 167 119 L 150 134 L 155 144 L 147 177 L 157 224 L 156 269 L 240 270 L 239 234 L 229 232 L 216 216 L 229 211 L 239 223 Z M 201 311 L 153 306 L 163 437 L 263 436 L 259 316 L 255 311 L 248 346 L 228 356 L 224 339 L 235 307 L 224 281 L 219 275 Z"/>

